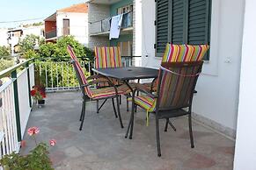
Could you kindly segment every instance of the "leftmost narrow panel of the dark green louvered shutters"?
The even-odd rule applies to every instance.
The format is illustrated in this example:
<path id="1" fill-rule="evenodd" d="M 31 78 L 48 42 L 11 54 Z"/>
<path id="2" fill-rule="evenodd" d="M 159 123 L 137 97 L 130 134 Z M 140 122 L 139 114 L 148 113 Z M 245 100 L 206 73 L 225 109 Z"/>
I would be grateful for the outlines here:
<path id="1" fill-rule="evenodd" d="M 169 0 L 157 0 L 156 8 L 156 52 L 162 56 L 168 42 L 168 9 Z"/>

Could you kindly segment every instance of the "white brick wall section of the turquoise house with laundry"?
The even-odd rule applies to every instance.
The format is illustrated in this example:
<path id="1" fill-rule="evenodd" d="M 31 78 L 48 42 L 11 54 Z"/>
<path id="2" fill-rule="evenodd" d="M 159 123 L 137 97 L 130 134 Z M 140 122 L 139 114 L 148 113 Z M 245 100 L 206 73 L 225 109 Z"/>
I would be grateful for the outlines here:
<path id="1" fill-rule="evenodd" d="M 92 49 L 94 46 L 109 46 L 110 42 L 108 37 L 95 37 L 90 36 L 90 31 L 93 29 L 90 23 L 97 22 L 104 18 L 109 18 L 110 10 L 109 5 L 105 4 L 88 4 L 89 11 L 88 11 L 88 21 L 89 21 L 89 47 Z"/>

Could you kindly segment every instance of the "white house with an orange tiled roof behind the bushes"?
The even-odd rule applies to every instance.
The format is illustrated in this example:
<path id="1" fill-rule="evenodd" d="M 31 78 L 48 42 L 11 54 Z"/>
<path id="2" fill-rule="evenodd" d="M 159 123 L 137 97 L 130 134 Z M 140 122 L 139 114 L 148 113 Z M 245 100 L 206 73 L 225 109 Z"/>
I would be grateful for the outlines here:
<path id="1" fill-rule="evenodd" d="M 55 42 L 62 36 L 72 35 L 84 46 L 88 46 L 88 6 L 75 4 L 56 11 L 45 21 L 45 39 Z"/>

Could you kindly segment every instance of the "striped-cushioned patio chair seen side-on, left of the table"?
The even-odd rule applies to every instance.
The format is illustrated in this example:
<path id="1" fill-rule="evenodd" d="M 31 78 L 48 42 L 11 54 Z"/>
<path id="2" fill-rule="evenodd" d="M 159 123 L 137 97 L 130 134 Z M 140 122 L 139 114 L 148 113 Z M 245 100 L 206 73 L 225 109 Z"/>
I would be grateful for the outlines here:
<path id="1" fill-rule="evenodd" d="M 80 124 L 79 130 L 82 131 L 83 124 L 84 124 L 85 101 L 87 99 L 87 96 L 91 99 L 91 101 L 112 99 L 114 115 L 116 118 L 119 117 L 121 128 L 123 128 L 123 124 L 121 120 L 120 105 L 118 103 L 119 103 L 119 96 L 123 95 L 126 91 L 128 91 L 128 87 L 126 85 L 116 87 L 112 83 L 112 81 L 108 80 L 107 78 L 103 79 L 103 77 L 100 75 L 92 75 L 86 78 L 84 76 L 83 69 L 79 64 L 76 54 L 74 53 L 72 47 L 68 46 L 67 49 L 71 57 L 71 63 L 75 69 L 77 79 L 83 94 L 83 106 L 82 106 L 82 112 L 80 115 L 81 124 Z M 108 82 L 110 86 L 102 89 L 91 89 L 91 85 L 96 85 L 97 83 L 101 83 L 101 82 Z M 115 109 L 114 98 L 116 98 L 117 111 Z"/>

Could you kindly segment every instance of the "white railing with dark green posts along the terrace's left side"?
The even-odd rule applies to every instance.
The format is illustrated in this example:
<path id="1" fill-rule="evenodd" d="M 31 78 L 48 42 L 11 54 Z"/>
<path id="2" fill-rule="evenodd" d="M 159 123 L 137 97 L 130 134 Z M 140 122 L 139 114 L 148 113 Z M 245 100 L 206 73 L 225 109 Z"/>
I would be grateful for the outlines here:
<path id="1" fill-rule="evenodd" d="M 29 61 L 32 60 L 0 72 L 0 78 L 9 79 L 0 86 L 0 159 L 18 152 L 26 131 L 32 109 L 30 90 L 34 85 L 34 67 Z"/>

